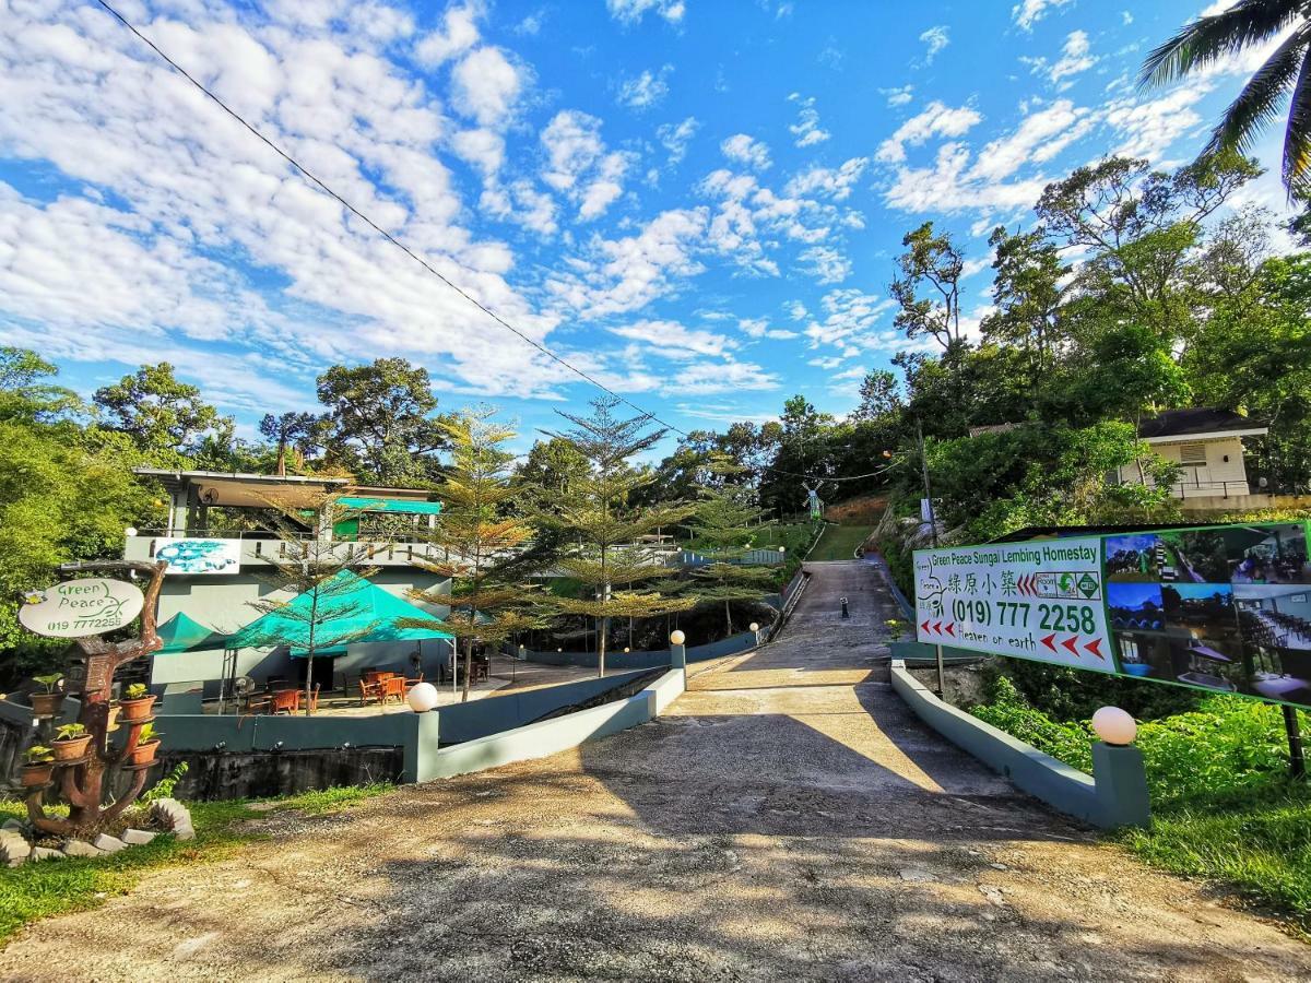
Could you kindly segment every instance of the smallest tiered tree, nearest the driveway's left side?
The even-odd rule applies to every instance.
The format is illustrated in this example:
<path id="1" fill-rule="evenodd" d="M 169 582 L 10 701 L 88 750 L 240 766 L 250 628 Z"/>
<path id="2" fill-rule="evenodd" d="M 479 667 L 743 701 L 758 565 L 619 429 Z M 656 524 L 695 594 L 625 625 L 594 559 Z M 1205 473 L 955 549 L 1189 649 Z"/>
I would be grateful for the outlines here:
<path id="1" fill-rule="evenodd" d="M 725 634 L 733 634 L 733 602 L 759 600 L 773 581 L 767 566 L 746 565 L 760 535 L 766 510 L 753 501 L 755 493 L 742 485 L 703 486 L 701 501 L 688 522 L 691 548 L 709 562 L 695 566 L 683 587 L 697 602 L 724 603 Z"/>

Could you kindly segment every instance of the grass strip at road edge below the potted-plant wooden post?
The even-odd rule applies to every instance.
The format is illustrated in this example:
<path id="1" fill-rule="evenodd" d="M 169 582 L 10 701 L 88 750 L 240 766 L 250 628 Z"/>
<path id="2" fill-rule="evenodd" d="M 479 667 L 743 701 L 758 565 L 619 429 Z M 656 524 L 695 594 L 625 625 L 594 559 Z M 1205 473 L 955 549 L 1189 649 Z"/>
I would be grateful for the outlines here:
<path id="1" fill-rule="evenodd" d="M 391 788 L 382 784 L 354 785 L 305 792 L 267 802 L 273 803 L 273 810 L 295 809 L 319 815 L 346 809 Z M 260 819 L 270 810 L 253 809 L 253 805 L 246 800 L 189 803 L 195 839 L 186 843 L 172 836 L 159 836 L 144 847 L 132 847 L 105 857 L 28 861 L 12 869 L 0 868 L 0 946 L 31 921 L 87 911 L 113 895 L 127 894 L 149 870 L 223 860 L 243 843 L 262 839 L 244 827 L 248 820 Z M 0 819 L 9 817 L 25 818 L 22 803 L 0 802 Z"/>

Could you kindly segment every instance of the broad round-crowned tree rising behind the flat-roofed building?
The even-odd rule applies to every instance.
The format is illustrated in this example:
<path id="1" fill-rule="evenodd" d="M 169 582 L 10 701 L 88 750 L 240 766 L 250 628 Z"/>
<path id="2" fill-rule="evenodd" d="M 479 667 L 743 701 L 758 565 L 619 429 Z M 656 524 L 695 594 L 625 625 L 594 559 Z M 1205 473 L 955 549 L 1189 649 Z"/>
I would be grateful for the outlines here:
<path id="1" fill-rule="evenodd" d="M 319 376 L 323 443 L 329 460 L 384 485 L 426 482 L 446 431 L 431 418 L 437 397 L 427 370 L 402 358 L 333 366 Z"/>

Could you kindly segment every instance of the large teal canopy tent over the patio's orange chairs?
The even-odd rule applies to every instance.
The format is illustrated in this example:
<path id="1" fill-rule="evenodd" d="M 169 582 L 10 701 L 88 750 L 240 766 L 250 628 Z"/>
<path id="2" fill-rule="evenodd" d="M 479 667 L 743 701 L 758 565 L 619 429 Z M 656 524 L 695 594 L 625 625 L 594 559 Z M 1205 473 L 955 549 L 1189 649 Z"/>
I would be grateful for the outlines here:
<path id="1" fill-rule="evenodd" d="M 316 655 L 341 654 L 346 644 L 452 637 L 437 626 L 400 626 L 397 623 L 406 619 L 423 619 L 434 625 L 440 621 L 350 570 L 342 570 L 325 581 L 317 595 L 316 599 L 309 591 L 298 594 L 283 607 L 235 632 L 228 638 L 228 647 L 264 649 L 286 645 L 292 655 L 305 655 L 309 650 L 312 609 Z"/>

